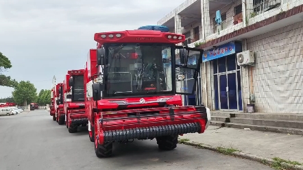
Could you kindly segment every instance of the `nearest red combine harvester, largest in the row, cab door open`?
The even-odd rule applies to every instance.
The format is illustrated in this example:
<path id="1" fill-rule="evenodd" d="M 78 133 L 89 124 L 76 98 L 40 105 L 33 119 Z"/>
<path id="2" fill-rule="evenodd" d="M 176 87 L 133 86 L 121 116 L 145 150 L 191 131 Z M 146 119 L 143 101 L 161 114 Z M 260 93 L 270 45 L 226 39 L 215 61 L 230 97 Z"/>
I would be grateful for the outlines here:
<path id="1" fill-rule="evenodd" d="M 195 92 L 202 49 L 177 46 L 184 35 L 154 30 L 102 32 L 94 39 L 97 73 L 90 56 L 86 113 L 97 157 L 110 156 L 114 141 L 156 138 L 159 149 L 174 149 L 178 135 L 204 133 L 210 110 L 182 106 L 181 96 Z M 195 82 L 186 86 L 185 78 Z"/>

